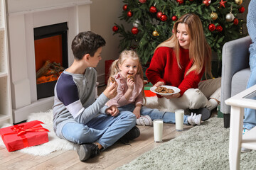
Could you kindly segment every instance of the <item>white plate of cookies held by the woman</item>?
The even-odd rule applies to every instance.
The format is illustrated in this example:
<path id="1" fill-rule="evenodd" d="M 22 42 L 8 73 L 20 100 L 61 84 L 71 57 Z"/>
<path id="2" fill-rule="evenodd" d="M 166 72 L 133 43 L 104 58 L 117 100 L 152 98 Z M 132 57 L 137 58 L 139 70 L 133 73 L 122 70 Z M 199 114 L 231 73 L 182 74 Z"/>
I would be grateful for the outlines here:
<path id="1" fill-rule="evenodd" d="M 178 94 L 181 90 L 175 86 L 152 86 L 150 91 L 159 94 L 161 96 L 169 96 L 171 94 Z"/>

